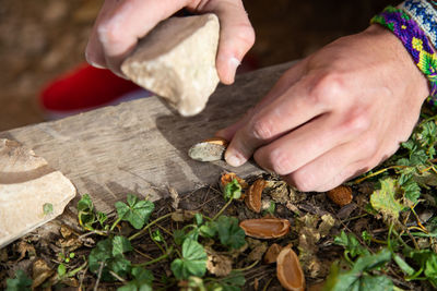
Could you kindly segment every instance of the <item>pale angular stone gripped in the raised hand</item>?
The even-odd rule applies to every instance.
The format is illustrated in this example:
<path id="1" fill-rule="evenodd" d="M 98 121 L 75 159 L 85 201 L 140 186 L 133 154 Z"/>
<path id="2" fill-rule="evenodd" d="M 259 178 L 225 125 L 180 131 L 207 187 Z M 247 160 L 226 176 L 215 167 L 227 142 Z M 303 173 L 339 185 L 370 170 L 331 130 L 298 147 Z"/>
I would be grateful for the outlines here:
<path id="1" fill-rule="evenodd" d="M 139 43 L 121 71 L 167 99 L 181 116 L 194 116 L 203 110 L 218 84 L 218 35 L 215 14 L 170 17 Z"/>

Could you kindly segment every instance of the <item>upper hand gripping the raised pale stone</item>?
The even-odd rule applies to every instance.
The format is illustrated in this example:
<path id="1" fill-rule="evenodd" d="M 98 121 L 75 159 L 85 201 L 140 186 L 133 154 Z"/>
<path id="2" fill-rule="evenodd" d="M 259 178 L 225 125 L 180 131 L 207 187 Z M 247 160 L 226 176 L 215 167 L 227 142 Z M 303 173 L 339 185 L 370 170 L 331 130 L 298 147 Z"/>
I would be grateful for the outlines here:
<path id="1" fill-rule="evenodd" d="M 122 75 L 120 65 L 138 40 L 182 8 L 218 16 L 215 65 L 222 83 L 232 84 L 237 66 L 255 43 L 255 32 L 240 0 L 106 0 L 90 36 L 86 60 Z"/>

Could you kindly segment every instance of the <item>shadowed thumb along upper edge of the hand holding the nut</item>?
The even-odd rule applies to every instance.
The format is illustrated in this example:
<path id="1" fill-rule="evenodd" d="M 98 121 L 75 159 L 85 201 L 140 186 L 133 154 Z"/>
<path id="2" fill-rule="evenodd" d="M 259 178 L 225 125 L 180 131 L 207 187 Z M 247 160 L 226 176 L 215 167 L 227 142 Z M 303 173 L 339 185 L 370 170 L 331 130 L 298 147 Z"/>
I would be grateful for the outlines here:
<path id="1" fill-rule="evenodd" d="M 249 109 L 246 114 L 239 119 L 236 123 L 220 130 L 215 135 L 231 141 L 235 133 L 239 131 L 247 122 L 252 118 L 252 116 L 264 108 L 267 105 L 272 102 L 277 96 L 281 96 L 285 90 L 296 83 L 304 74 L 305 61 L 300 61 L 288 69 L 280 80 L 274 84 L 270 92 L 259 101 L 253 108 Z"/>

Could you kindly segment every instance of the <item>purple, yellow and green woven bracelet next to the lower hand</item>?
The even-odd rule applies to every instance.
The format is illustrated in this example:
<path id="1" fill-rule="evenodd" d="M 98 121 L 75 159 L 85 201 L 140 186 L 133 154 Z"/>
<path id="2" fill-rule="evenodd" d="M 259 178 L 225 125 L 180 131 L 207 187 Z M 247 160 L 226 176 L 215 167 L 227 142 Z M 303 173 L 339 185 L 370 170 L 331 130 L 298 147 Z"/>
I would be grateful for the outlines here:
<path id="1" fill-rule="evenodd" d="M 402 41 L 414 63 L 428 78 L 430 96 L 427 100 L 437 107 L 437 54 L 417 23 L 403 10 L 393 7 L 386 8 L 370 23 L 387 27 Z"/>

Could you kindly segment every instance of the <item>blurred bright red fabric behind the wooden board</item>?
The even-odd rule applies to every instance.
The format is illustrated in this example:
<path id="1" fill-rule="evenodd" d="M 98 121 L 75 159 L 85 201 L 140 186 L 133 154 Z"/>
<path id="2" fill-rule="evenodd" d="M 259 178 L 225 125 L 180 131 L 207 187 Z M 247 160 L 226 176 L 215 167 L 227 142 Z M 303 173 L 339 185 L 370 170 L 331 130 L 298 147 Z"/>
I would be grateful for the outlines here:
<path id="1" fill-rule="evenodd" d="M 39 101 L 47 110 L 81 110 L 108 104 L 138 88 L 109 70 L 83 64 L 49 83 Z"/>

